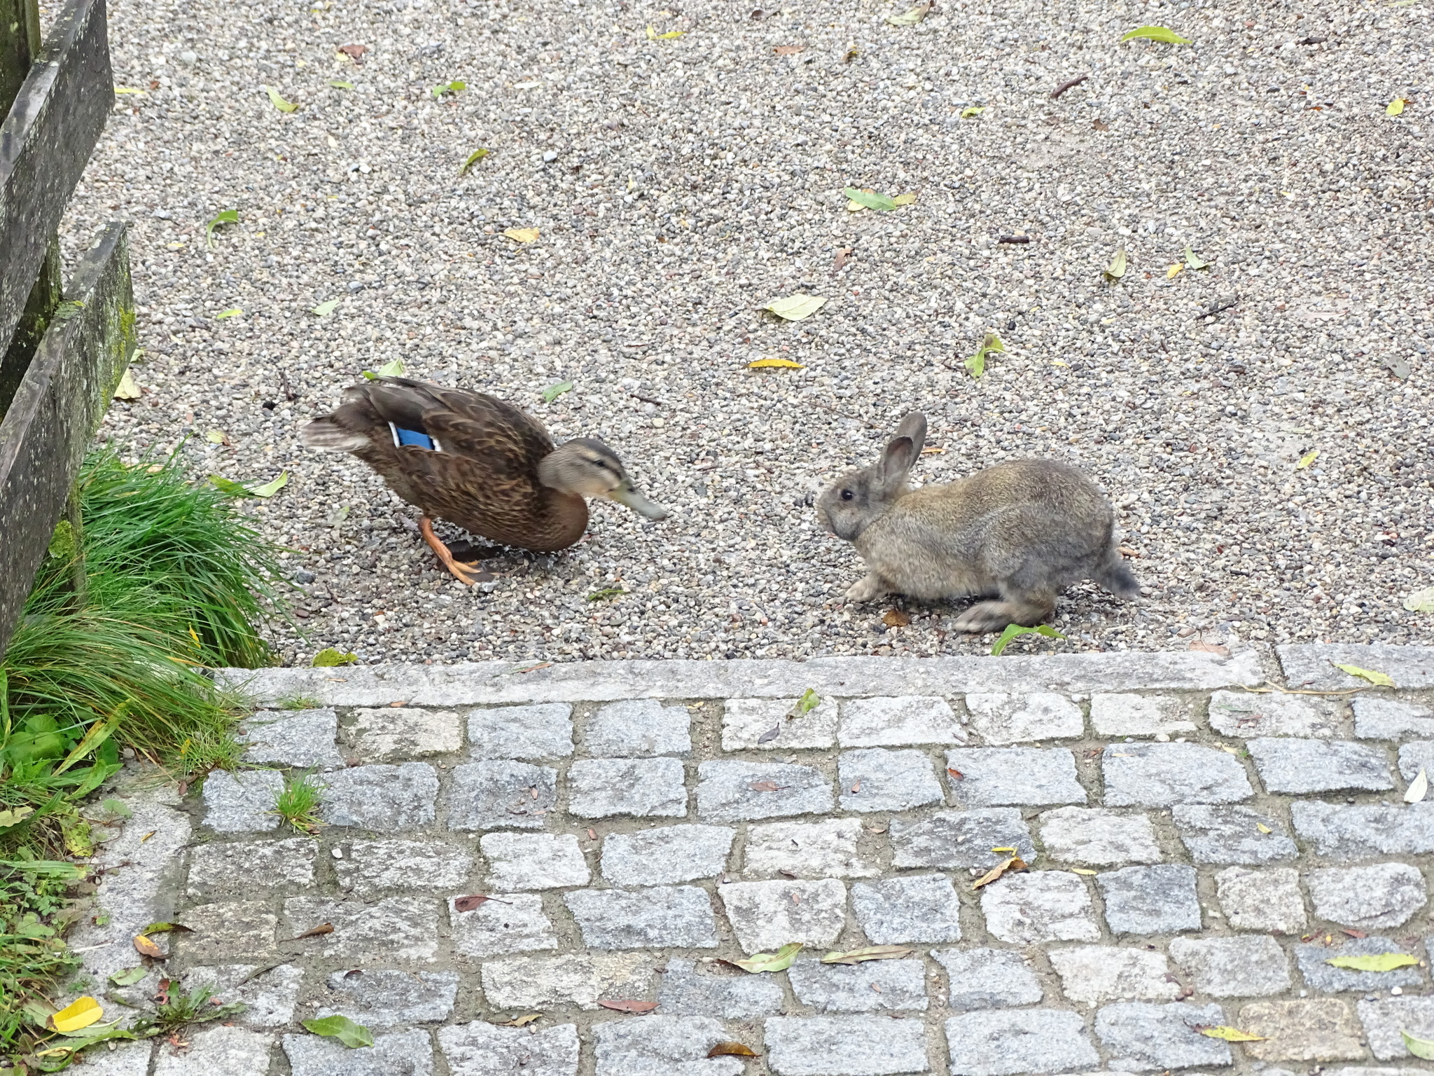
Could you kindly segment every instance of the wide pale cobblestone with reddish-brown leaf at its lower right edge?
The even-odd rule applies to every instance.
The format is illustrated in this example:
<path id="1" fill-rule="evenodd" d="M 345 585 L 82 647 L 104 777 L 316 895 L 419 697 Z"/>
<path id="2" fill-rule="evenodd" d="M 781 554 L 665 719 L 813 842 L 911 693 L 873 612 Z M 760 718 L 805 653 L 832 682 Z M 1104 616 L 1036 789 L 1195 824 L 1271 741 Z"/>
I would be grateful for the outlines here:
<path id="1" fill-rule="evenodd" d="M 645 999 L 655 958 L 648 953 L 564 953 L 483 963 L 483 994 L 493 1009 L 597 1009 L 599 999 Z M 665 1011 L 665 1009 L 664 1009 Z M 710 1013 L 708 1013 L 710 1014 Z"/>

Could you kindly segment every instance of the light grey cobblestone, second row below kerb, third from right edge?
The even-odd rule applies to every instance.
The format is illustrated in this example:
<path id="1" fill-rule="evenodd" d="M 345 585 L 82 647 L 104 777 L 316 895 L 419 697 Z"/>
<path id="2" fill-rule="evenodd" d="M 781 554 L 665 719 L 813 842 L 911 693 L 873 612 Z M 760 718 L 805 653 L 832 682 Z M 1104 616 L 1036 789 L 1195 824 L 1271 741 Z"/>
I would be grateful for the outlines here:
<path id="1" fill-rule="evenodd" d="M 1235 803 L 1255 795 L 1233 755 L 1195 743 L 1119 743 L 1101 755 L 1106 806 Z"/>

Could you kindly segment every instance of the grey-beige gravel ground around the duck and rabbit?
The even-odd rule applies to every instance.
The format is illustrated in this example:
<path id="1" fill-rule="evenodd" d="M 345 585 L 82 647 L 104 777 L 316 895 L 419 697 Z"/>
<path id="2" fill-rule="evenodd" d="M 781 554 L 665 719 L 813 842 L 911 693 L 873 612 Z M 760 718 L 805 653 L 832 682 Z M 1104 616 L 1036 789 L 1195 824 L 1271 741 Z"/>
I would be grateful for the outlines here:
<path id="1" fill-rule="evenodd" d="M 899 10 L 116 0 L 145 92 L 66 225 L 73 254 L 135 222 L 143 397 L 103 436 L 288 471 L 248 504 L 294 548 L 295 661 L 981 651 L 961 605 L 845 603 L 860 565 L 809 506 L 911 407 L 942 449 L 921 481 L 1050 456 L 1120 506 L 1146 597 L 1073 590 L 1040 647 L 1434 641 L 1401 608 L 1434 582 L 1427 0 Z M 1193 44 L 1119 44 L 1146 23 Z M 919 198 L 855 214 L 849 184 Z M 1187 245 L 1209 268 L 1169 278 Z M 760 311 L 794 291 L 827 303 Z M 598 505 L 575 549 L 462 588 L 416 512 L 297 440 L 394 357 L 601 436 L 674 514 Z"/>

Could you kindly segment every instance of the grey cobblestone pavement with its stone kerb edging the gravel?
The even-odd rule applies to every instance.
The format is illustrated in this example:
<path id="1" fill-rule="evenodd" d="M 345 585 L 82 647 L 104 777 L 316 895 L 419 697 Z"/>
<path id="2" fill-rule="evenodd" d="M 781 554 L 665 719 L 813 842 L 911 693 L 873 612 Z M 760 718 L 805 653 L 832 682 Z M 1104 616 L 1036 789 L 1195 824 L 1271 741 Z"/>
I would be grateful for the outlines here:
<path id="1" fill-rule="evenodd" d="M 1364 681 L 1332 660 L 1397 686 L 1338 694 Z M 1434 768 L 1431 648 L 522 669 L 267 670 L 255 768 L 184 796 L 130 772 L 109 920 L 75 945 L 100 980 L 143 924 L 182 922 L 110 993 L 163 974 L 248 1009 L 82 1069 L 1423 1066 L 1400 1033 L 1434 1037 L 1434 802 L 1405 802 Z M 787 717 L 804 687 L 820 704 Z M 298 769 L 324 785 L 315 836 L 272 813 Z M 1012 849 L 1030 871 L 978 888 Z M 782 973 L 726 963 L 787 943 Z M 866 945 L 909 951 L 820 960 Z M 1417 963 L 1331 963 L 1385 953 Z M 374 1044 L 300 1026 L 331 1013 Z M 708 1057 L 723 1042 L 757 1057 Z"/>

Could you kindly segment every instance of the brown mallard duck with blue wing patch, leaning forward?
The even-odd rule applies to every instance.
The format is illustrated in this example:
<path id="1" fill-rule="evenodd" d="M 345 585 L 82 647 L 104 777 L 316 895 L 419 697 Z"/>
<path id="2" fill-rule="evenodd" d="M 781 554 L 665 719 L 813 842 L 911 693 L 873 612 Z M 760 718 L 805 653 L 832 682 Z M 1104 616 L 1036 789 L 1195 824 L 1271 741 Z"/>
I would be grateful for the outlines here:
<path id="1" fill-rule="evenodd" d="M 453 558 L 430 516 L 503 545 L 566 549 L 588 527 L 589 496 L 605 496 L 648 519 L 667 511 L 632 486 L 607 445 L 574 438 L 555 446 L 548 430 L 511 403 L 469 389 L 409 377 L 377 377 L 344 389 L 331 415 L 307 423 L 311 449 L 351 452 L 423 512 L 419 529 L 453 575 L 476 568 Z"/>

